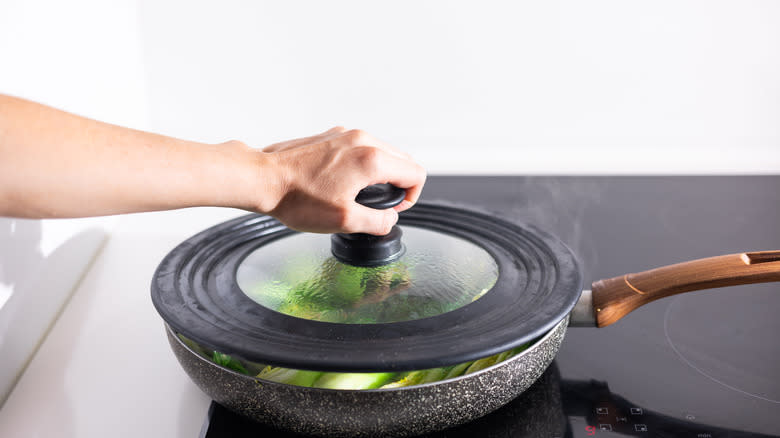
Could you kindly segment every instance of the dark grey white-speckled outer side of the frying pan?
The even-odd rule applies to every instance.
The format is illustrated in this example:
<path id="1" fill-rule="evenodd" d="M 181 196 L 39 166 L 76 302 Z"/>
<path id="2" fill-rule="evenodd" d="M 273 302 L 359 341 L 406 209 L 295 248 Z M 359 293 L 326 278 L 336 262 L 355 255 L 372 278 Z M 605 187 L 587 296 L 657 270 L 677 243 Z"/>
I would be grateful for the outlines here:
<path id="1" fill-rule="evenodd" d="M 223 406 L 279 429 L 328 437 L 403 437 L 462 424 L 528 389 L 560 348 L 569 318 L 524 352 L 455 379 L 406 388 L 328 390 L 269 382 L 222 368 L 190 350 L 166 326 L 193 382 Z"/>

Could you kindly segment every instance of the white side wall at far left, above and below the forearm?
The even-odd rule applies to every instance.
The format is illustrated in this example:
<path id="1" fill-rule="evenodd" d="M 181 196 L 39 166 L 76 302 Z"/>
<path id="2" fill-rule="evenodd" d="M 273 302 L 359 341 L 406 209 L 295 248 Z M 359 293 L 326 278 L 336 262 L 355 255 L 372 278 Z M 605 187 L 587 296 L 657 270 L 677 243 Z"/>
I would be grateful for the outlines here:
<path id="1" fill-rule="evenodd" d="M 0 93 L 148 128 L 136 11 L 132 0 L 1 1 Z M 116 220 L 0 218 L 0 404 Z"/>

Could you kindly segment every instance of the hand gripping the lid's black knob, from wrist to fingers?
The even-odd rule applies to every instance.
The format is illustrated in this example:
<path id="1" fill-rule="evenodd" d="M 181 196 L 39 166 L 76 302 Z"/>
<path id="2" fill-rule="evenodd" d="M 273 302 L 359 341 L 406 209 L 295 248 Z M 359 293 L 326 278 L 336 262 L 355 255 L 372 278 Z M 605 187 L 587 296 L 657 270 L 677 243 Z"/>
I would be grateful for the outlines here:
<path id="1" fill-rule="evenodd" d="M 360 130 L 336 127 L 263 152 L 280 182 L 278 202 L 267 213 L 300 231 L 385 235 L 425 184 L 425 170 L 408 154 Z M 406 198 L 387 210 L 355 202 L 360 190 L 378 183 L 406 189 Z"/>

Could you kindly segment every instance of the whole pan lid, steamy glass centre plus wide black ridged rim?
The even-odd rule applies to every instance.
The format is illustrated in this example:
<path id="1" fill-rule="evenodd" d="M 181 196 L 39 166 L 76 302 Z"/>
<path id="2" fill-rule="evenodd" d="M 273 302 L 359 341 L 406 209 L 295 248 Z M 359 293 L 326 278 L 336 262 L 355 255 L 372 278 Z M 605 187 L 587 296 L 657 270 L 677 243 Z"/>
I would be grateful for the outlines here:
<path id="1" fill-rule="evenodd" d="M 396 372 L 519 347 L 580 297 L 574 254 L 536 228 L 427 202 L 402 212 L 396 227 L 374 239 L 235 218 L 165 256 L 152 303 L 177 333 L 252 362 Z M 369 264 L 378 266 L 354 266 Z"/>

